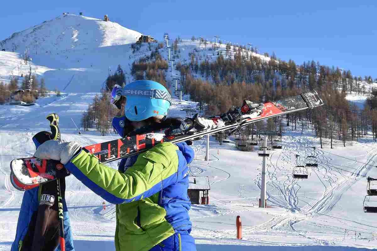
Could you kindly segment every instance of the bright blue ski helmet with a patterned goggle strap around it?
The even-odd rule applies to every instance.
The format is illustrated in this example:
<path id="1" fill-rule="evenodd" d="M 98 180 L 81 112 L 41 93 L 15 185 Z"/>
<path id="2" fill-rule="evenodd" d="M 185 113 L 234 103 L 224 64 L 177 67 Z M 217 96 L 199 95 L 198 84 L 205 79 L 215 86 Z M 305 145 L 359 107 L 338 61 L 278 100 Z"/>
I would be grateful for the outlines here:
<path id="1" fill-rule="evenodd" d="M 124 115 L 130 121 L 167 116 L 172 100 L 163 85 L 151 80 L 131 82 L 122 88 L 121 95 L 126 97 Z"/>

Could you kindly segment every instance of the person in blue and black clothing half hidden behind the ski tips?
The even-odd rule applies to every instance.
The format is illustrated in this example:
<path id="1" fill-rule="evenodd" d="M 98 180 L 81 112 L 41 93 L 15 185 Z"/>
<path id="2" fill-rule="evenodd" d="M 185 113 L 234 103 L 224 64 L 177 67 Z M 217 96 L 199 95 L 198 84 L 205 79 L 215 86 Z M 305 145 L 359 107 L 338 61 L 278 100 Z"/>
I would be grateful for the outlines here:
<path id="1" fill-rule="evenodd" d="M 49 134 L 49 132 L 40 132 L 37 135 L 45 133 Z M 35 136 L 37 136 L 35 135 Z M 42 134 L 43 135 L 43 134 Z M 43 141 L 35 140 L 36 137 L 33 137 L 33 141 L 35 144 L 35 148 L 38 149 L 38 146 L 43 143 Z M 65 189 L 65 181 L 62 180 L 62 186 Z M 23 195 L 20 214 L 18 216 L 17 222 L 17 229 L 16 229 L 16 236 L 14 242 L 12 243 L 11 251 L 24 251 L 24 250 L 32 250 L 32 248 L 37 248 L 38 250 L 43 251 L 60 251 L 60 245 L 58 243 L 58 236 L 56 233 L 50 234 L 49 230 L 51 225 L 54 223 L 51 222 L 49 217 L 44 216 L 43 221 L 41 222 L 41 215 L 44 211 L 43 209 L 50 210 L 50 208 L 42 208 L 41 210 L 41 203 L 43 203 L 43 196 L 45 193 L 54 194 L 56 192 L 56 184 L 55 183 L 48 183 L 38 187 L 35 187 L 30 190 L 26 190 Z M 70 228 L 70 221 L 69 215 L 67 210 L 67 203 L 65 198 L 63 197 L 63 222 L 64 222 L 64 233 L 65 233 L 65 250 L 66 251 L 75 251 L 73 238 L 72 238 L 72 231 Z M 43 216 L 42 216 L 43 218 Z M 57 220 L 57 219 L 56 219 Z M 46 224 L 42 226 L 40 224 Z M 56 224 L 55 224 L 56 225 Z M 47 228 L 46 228 L 47 227 Z M 56 228 L 55 228 L 56 229 Z M 37 239 L 37 243 L 34 243 L 33 239 Z M 57 246 L 55 248 L 55 246 Z M 34 249 L 35 250 L 35 249 Z M 34 251 L 32 250 L 32 251 Z"/>

